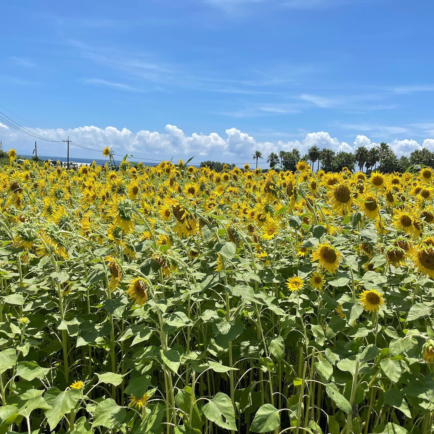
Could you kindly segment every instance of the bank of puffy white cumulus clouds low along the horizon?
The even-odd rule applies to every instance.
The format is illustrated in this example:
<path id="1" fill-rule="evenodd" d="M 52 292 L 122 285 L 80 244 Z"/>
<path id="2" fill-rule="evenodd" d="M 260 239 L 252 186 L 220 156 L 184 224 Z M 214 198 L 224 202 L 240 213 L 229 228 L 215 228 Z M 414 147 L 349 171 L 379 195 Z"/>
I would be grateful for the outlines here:
<path id="1" fill-rule="evenodd" d="M 140 130 L 133 133 L 128 128 L 118 130 L 108 126 L 99 128 L 96 126 L 83 126 L 70 129 L 43 129 L 28 128 L 35 134 L 51 139 L 65 140 L 67 136 L 82 146 L 102 151 L 102 148 L 109 146 L 116 154 L 132 154 L 136 158 L 149 158 L 155 160 L 187 159 L 195 156 L 194 163 L 204 160 L 226 161 L 229 163 L 245 163 L 252 161 L 252 154 L 259 150 L 262 152 L 264 161 L 271 152 L 280 150 L 291 151 L 298 149 L 301 155 L 307 153 L 312 146 L 319 149 L 329 148 L 335 152 L 352 152 L 358 146 L 365 146 L 370 149 L 377 143 L 371 141 L 366 135 L 357 135 L 352 143 L 339 141 L 333 138 L 328 132 L 310 132 L 301 140 L 293 141 L 259 141 L 253 136 L 242 132 L 237 128 L 227 128 L 226 137 L 221 137 L 216 132 L 210 134 L 185 134 L 175 125 L 166 125 L 165 132 L 150 132 Z M 5 149 L 15 148 L 19 154 L 28 155 L 33 150 L 33 138 L 22 132 L 16 131 L 7 125 L 0 123 L 0 138 L 3 140 Z M 66 147 L 63 143 L 53 143 L 42 140 L 38 141 L 39 155 L 59 157 L 65 154 Z M 399 156 L 410 155 L 415 150 L 427 148 L 434 151 L 434 138 L 426 138 L 421 143 L 413 139 L 393 139 L 389 142 L 391 148 Z M 102 155 L 95 151 L 70 148 L 72 158 L 102 158 Z"/>

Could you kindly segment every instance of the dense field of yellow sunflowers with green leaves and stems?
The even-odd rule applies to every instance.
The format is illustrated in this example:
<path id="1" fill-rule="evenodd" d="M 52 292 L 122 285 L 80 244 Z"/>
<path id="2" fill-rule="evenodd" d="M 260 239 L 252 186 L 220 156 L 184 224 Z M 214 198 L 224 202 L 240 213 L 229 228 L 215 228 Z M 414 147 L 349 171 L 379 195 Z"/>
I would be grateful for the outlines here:
<path id="1" fill-rule="evenodd" d="M 10 152 L 0 434 L 431 433 L 433 180 Z"/>

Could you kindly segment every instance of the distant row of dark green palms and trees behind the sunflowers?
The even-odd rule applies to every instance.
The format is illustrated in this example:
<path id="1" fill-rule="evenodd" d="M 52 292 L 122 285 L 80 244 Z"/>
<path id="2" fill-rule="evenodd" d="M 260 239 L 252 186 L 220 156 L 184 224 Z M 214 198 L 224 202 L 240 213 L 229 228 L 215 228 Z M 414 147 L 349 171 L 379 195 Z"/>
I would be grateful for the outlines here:
<path id="1" fill-rule="evenodd" d="M 258 160 L 262 158 L 262 153 L 255 151 L 253 159 L 256 160 L 256 167 L 258 167 Z M 300 160 L 310 162 L 312 171 L 318 171 L 321 168 L 326 172 L 339 172 L 342 168 L 347 167 L 353 172 L 360 170 L 368 173 L 368 171 L 379 170 L 383 173 L 391 173 L 404 172 L 413 164 L 434 167 L 434 152 L 423 148 L 413 151 L 410 157 L 402 155 L 398 158 L 393 149 L 385 142 L 381 142 L 371 149 L 359 146 L 354 152 L 339 151 L 337 153 L 329 148 L 320 150 L 317 146 L 312 146 L 307 154 L 302 156 L 298 149 L 279 151 L 278 154 L 272 152 L 267 158 L 267 163 L 270 164 L 270 168 L 295 171 Z M 203 161 L 201 167 L 204 166 L 214 168 L 216 171 L 223 170 L 223 163 L 216 161 Z M 232 168 L 234 165 L 229 164 L 228 166 Z"/>

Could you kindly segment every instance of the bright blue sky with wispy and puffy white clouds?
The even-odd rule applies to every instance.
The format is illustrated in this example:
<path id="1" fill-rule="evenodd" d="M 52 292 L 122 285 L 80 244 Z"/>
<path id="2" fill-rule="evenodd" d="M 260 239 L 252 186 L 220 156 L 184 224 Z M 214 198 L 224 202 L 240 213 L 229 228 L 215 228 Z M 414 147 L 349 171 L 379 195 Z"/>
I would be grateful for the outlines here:
<path id="1" fill-rule="evenodd" d="M 154 159 L 434 150 L 433 13 L 401 0 L 5 2 L 0 110 L 44 137 Z M 33 141 L 4 122 L 0 139 L 21 153 Z"/>

